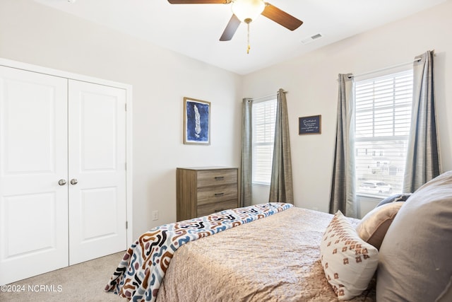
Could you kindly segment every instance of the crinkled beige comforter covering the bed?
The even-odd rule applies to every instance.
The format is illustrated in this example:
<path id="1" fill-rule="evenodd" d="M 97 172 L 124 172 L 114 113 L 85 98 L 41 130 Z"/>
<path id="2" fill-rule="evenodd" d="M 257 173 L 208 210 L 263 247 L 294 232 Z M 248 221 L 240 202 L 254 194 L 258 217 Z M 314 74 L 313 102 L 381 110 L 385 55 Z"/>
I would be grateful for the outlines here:
<path id="1" fill-rule="evenodd" d="M 157 301 L 337 301 L 319 260 L 332 217 L 294 207 L 186 243 Z M 366 294 L 351 301 L 375 301 L 374 291 Z"/>

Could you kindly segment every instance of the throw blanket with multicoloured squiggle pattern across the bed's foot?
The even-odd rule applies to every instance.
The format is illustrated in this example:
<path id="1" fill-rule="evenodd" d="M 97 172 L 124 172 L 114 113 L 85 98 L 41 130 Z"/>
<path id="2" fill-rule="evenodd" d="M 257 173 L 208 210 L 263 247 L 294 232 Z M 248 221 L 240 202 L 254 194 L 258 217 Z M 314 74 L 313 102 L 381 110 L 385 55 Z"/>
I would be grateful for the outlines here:
<path id="1" fill-rule="evenodd" d="M 293 207 L 292 204 L 275 202 L 257 204 L 157 226 L 143 233 L 131 245 L 105 291 L 113 291 L 114 294 L 133 301 L 155 301 L 169 261 L 177 248 L 191 240 L 210 236 L 290 207 Z"/>

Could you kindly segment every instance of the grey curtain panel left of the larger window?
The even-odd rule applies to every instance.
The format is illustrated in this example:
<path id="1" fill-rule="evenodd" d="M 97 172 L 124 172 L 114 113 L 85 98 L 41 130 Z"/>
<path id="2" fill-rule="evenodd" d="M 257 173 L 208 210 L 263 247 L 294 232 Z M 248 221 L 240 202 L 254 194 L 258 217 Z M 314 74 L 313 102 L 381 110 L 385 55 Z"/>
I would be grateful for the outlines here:
<path id="1" fill-rule="evenodd" d="M 355 198 L 355 96 L 351 74 L 339 74 L 338 120 L 336 127 L 330 213 L 338 210 L 357 217 Z"/>

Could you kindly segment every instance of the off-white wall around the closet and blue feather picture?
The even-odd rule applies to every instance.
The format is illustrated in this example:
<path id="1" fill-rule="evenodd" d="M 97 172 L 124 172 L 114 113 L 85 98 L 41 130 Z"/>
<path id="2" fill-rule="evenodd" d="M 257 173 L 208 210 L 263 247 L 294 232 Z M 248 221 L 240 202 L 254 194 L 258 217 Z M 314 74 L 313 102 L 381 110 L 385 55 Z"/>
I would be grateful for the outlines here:
<path id="1" fill-rule="evenodd" d="M 0 1 L 0 57 L 133 86 L 135 237 L 176 220 L 176 167 L 239 165 L 237 74 L 30 0 Z M 210 146 L 182 143 L 184 96 L 211 102 Z"/>

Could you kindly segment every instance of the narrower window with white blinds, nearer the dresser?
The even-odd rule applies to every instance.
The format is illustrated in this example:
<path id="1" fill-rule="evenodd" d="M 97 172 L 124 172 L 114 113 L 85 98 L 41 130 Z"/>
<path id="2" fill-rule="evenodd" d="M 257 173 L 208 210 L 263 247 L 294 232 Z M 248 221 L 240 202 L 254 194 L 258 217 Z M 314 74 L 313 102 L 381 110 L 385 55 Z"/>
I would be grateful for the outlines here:
<path id="1" fill-rule="evenodd" d="M 276 100 L 253 103 L 253 183 L 270 185 Z"/>

